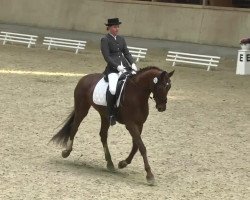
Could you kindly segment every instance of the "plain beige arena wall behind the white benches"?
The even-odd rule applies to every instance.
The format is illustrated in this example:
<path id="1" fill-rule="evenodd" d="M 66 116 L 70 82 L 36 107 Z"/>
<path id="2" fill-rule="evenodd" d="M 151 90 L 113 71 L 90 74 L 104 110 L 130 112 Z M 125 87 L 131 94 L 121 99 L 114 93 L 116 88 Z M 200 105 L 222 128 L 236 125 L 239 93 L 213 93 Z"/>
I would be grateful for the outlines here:
<path id="1" fill-rule="evenodd" d="M 0 23 L 104 33 L 106 19 L 119 17 L 126 36 L 237 47 L 250 32 L 249 9 L 218 2 L 2 0 Z"/>

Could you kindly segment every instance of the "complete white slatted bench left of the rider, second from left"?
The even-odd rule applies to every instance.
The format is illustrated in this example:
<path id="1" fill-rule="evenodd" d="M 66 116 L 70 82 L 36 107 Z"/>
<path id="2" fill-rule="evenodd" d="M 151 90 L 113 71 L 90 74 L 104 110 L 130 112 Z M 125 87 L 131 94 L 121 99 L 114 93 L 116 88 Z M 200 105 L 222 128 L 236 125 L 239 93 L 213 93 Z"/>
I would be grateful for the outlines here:
<path id="1" fill-rule="evenodd" d="M 75 53 L 77 54 L 79 50 L 85 49 L 87 41 L 82 40 L 71 40 L 64 38 L 55 38 L 55 37 L 44 37 L 43 45 L 48 46 L 48 50 L 51 47 L 62 47 L 62 48 L 71 48 L 75 49 Z"/>

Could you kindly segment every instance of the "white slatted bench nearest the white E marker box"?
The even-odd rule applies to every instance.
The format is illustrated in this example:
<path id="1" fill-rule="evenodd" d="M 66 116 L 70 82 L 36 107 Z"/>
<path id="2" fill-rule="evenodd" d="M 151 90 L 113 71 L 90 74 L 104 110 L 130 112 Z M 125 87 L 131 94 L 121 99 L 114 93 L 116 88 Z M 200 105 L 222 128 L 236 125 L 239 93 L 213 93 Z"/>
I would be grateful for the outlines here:
<path id="1" fill-rule="evenodd" d="M 207 67 L 207 71 L 209 71 L 211 67 L 217 67 L 219 60 L 220 57 L 218 56 L 191 54 L 176 51 L 168 51 L 166 58 L 166 61 L 173 62 L 172 66 L 175 66 L 176 63 L 188 63 L 205 66 Z"/>

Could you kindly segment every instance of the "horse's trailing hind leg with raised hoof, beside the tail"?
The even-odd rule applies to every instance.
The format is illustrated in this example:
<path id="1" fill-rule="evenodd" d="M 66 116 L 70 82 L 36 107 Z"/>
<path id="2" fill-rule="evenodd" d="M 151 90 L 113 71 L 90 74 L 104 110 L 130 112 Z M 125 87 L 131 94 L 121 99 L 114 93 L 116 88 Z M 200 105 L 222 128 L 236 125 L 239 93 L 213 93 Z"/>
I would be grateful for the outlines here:
<path id="1" fill-rule="evenodd" d="M 88 111 L 89 111 L 90 105 L 89 104 L 84 104 L 83 101 L 80 103 L 80 105 L 75 105 L 75 116 L 74 116 L 74 121 L 71 124 L 71 129 L 70 129 L 70 137 L 66 145 L 66 149 L 62 151 L 62 157 L 67 158 L 73 147 L 73 142 L 74 138 L 76 135 L 76 132 L 78 131 L 78 127 L 80 126 L 82 120 L 84 117 L 87 116 Z"/>

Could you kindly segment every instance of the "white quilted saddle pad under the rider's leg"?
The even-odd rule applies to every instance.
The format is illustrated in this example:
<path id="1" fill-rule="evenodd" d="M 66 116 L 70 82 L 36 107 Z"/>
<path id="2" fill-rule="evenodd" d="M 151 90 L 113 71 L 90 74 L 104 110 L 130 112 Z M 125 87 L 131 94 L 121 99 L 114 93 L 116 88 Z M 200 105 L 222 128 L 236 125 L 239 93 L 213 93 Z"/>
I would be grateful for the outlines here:
<path id="1" fill-rule="evenodd" d="M 126 82 L 126 80 L 125 80 L 125 82 Z M 124 84 L 122 86 L 121 92 L 120 92 L 119 97 L 118 97 L 117 102 L 116 102 L 117 107 L 119 107 L 119 105 L 120 105 L 120 98 L 121 98 L 123 87 L 124 87 Z M 94 92 L 93 92 L 93 102 L 96 105 L 107 106 L 107 101 L 106 101 L 107 88 L 108 88 L 108 83 L 104 80 L 104 78 L 102 78 L 96 84 Z"/>

